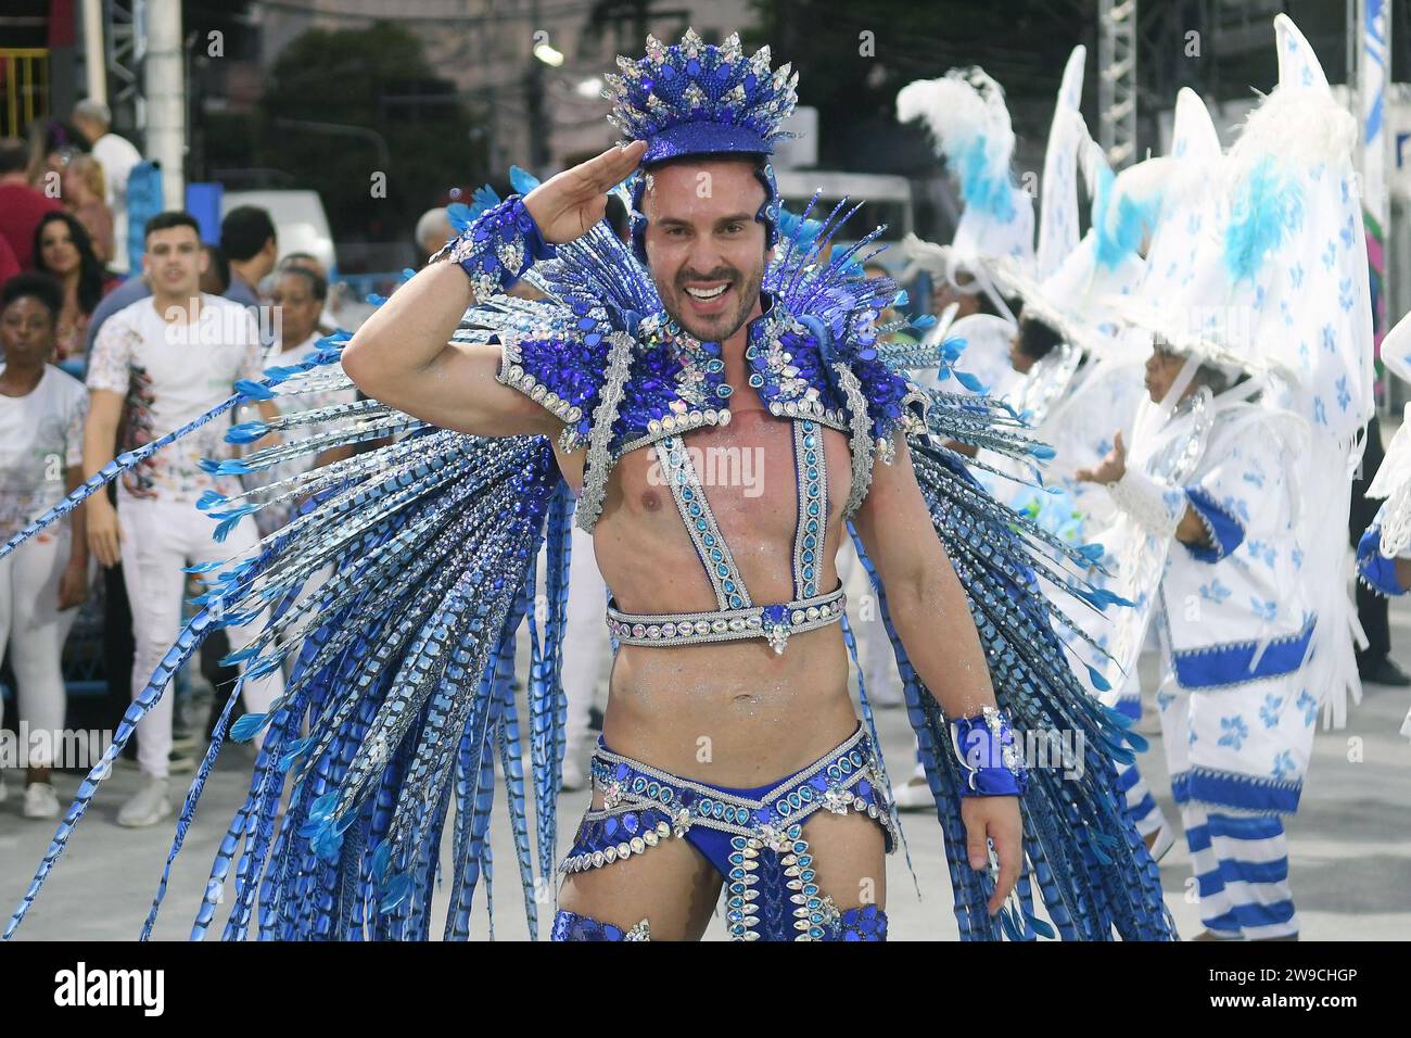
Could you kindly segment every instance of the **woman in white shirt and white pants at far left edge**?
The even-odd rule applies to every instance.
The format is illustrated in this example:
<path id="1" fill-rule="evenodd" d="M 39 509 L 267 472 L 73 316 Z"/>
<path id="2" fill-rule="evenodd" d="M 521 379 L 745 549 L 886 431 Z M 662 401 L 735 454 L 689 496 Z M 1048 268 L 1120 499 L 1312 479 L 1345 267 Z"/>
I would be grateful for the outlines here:
<path id="1" fill-rule="evenodd" d="M 63 291 L 45 274 L 0 288 L 0 542 L 83 480 L 83 384 L 47 363 Z M 8 644 L 25 747 L 25 818 L 55 818 L 52 747 L 65 720 L 63 641 L 89 589 L 83 513 L 75 511 L 0 559 L 0 657 Z M 0 703 L 3 710 L 3 703 Z"/>

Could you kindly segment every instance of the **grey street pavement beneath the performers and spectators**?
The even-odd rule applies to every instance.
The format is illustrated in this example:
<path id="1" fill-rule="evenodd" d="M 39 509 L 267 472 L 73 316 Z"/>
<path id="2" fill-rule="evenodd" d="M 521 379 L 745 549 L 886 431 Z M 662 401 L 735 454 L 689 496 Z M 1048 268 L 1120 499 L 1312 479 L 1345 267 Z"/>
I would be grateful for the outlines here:
<path id="1" fill-rule="evenodd" d="M 1393 602 L 1393 655 L 1411 671 L 1411 603 Z M 1398 734 L 1411 689 L 1367 686 L 1363 703 L 1350 710 L 1343 732 L 1319 732 L 1302 806 L 1288 822 L 1291 885 L 1307 941 L 1386 941 L 1411 936 L 1411 741 Z M 1149 724 L 1153 710 L 1149 705 Z M 878 710 L 878 727 L 893 780 L 910 771 L 912 737 L 904 712 Z M 1178 819 L 1171 804 L 1160 736 L 1140 764 L 1163 811 Z M 185 849 L 172 867 L 171 884 L 154 931 L 157 939 L 186 939 L 220 837 L 247 787 L 253 753 L 229 744 L 217 761 Z M 0 915 L 18 904 L 54 833 L 52 822 L 20 815 L 23 772 L 7 772 L 10 797 L 0 804 Z M 188 780 L 174 788 L 185 791 Z M 79 777 L 55 778 L 66 805 Z M 137 772 L 116 768 L 79 825 L 69 850 L 54 870 L 17 939 L 134 939 L 147 917 L 175 822 L 130 830 L 114 823 L 124 798 L 137 787 Z M 560 853 L 571 840 L 588 794 L 560 798 Z M 504 811 L 497 799 L 492 826 L 495 938 L 526 939 L 523 898 Z M 893 941 L 954 941 L 950 880 L 934 815 L 907 813 L 903 825 L 916 881 L 906 857 L 888 861 L 888 915 Z M 531 832 L 533 823 L 531 821 Z M 449 845 L 450 840 L 447 839 Z M 444 864 L 449 863 L 443 861 Z M 1180 932 L 1201 929 L 1189 856 L 1184 840 L 1161 863 L 1165 900 Z M 444 897 L 442 898 L 444 901 Z M 540 936 L 547 936 L 552 904 L 540 911 Z M 217 912 L 223 922 L 224 914 Z M 724 939 L 713 922 L 707 939 Z M 214 931 L 219 935 L 219 928 Z M 437 928 L 439 932 L 439 928 Z M 473 939 L 485 939 L 485 890 L 476 893 Z"/>

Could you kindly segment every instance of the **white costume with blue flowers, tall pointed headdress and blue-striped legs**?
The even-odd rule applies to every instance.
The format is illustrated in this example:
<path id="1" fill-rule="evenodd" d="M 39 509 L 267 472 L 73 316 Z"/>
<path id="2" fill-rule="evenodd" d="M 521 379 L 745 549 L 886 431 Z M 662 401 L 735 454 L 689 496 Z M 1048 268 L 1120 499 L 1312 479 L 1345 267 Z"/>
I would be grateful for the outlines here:
<path id="1" fill-rule="evenodd" d="M 1215 936 L 1290 938 L 1283 818 L 1319 710 L 1356 686 L 1343 554 L 1328 510 L 1370 414 L 1370 295 L 1352 120 L 1307 41 L 1276 18 L 1280 85 L 1250 116 L 1209 203 L 1165 226 L 1161 280 L 1127 308 L 1185 366 L 1137 417 L 1110 484 L 1133 531 L 1115 645 L 1134 664 L 1153 617 L 1173 794 Z M 1359 291 L 1360 287 L 1360 291 Z M 1233 386 L 1194 384 L 1197 367 Z M 1175 539 L 1192 510 L 1197 542 Z M 1346 511 L 1340 523 L 1346 524 Z"/>

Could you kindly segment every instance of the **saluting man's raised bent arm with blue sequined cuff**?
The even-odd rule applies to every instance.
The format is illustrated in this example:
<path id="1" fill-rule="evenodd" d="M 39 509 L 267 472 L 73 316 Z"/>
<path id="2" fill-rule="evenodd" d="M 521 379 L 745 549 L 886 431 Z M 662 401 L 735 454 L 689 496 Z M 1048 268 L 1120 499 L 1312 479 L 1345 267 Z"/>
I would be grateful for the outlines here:
<path id="1" fill-rule="evenodd" d="M 636 168 L 643 151 L 641 141 L 608 148 L 483 216 L 494 220 L 492 234 L 508 249 L 484 236 L 463 237 L 450 261 L 428 264 L 368 318 L 343 350 L 343 370 L 370 397 L 447 429 L 481 436 L 556 432 L 560 424 L 552 414 L 497 380 L 498 346 L 450 338 L 471 304 L 509 288 L 543 246 L 571 241 L 602 219 L 605 192 Z M 508 270 L 501 256 L 516 243 L 523 258 Z"/>

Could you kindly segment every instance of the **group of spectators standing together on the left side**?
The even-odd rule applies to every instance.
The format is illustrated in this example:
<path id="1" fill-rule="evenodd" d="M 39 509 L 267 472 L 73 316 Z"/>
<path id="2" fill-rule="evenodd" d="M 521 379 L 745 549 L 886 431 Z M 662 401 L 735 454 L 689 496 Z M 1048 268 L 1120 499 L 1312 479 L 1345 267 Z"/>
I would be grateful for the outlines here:
<path id="1" fill-rule="evenodd" d="M 69 123 L 40 124 L 28 143 L 0 140 L 0 542 L 121 451 L 196 418 L 275 356 L 296 362 L 332 330 L 327 271 L 308 253 L 281 260 L 277 227 L 258 208 L 231 209 L 219 241 L 203 241 L 189 213 L 148 219 L 128 271 L 126 185 L 140 160 L 109 130 L 107 109 L 90 102 Z M 213 426 L 185 441 L 181 456 L 164 452 L 71 523 L 0 559 L 0 658 L 8 658 L 18 706 L 11 726 L 65 727 L 62 650 L 90 592 L 102 610 L 102 669 L 116 723 L 198 590 L 185 568 L 258 539 L 246 520 L 217 544 L 195 508 L 206 490 L 237 490 L 200 467 L 203 456 L 227 456 L 223 432 Z M 238 669 L 220 664 L 240 648 L 234 641 L 213 638 L 192 679 L 234 678 Z M 278 678 L 246 691 L 255 709 L 277 695 Z M 133 757 L 144 781 L 119 813 L 121 825 L 165 816 L 168 775 L 195 767 L 199 732 L 174 734 L 165 702 L 140 732 Z M 32 741 L 25 818 L 59 813 L 49 782 L 59 744 Z M 0 774 L 0 798 L 7 792 Z"/>

